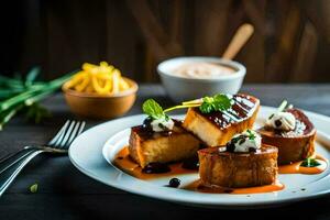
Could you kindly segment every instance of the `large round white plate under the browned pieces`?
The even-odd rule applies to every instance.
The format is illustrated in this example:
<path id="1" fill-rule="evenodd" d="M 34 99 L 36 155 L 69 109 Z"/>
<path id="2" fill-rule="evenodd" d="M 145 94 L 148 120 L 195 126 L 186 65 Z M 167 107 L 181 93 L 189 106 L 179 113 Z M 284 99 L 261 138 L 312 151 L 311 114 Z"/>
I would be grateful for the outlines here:
<path id="1" fill-rule="evenodd" d="M 262 107 L 256 120 L 256 127 L 275 109 Z M 317 152 L 330 160 L 329 127 L 330 118 L 307 112 L 309 119 L 318 129 Z M 330 168 L 318 175 L 279 175 L 279 180 L 285 184 L 285 189 L 277 193 L 228 195 L 202 194 L 177 188 L 164 187 L 170 177 L 153 180 L 140 180 L 114 166 L 111 161 L 116 153 L 128 144 L 129 128 L 141 124 L 145 116 L 139 114 L 112 120 L 94 127 L 79 135 L 69 148 L 69 157 L 73 164 L 84 174 L 109 186 L 147 196 L 191 206 L 212 208 L 258 208 L 277 206 L 289 201 L 297 201 L 318 197 L 330 193 Z M 183 118 L 176 116 L 174 118 Z M 103 155 L 102 155 L 103 154 Z M 105 160 L 106 157 L 106 160 Z M 182 186 L 198 178 L 198 175 L 176 176 L 182 180 Z"/>

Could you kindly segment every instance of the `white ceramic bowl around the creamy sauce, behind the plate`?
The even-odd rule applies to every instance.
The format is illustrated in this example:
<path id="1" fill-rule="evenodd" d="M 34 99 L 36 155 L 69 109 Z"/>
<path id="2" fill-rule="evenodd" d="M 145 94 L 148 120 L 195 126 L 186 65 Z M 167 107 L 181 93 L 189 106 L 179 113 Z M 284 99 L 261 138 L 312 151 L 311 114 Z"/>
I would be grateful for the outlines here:
<path id="1" fill-rule="evenodd" d="M 178 66 L 194 62 L 221 64 L 235 69 L 235 73 L 217 78 L 188 78 L 173 74 Z M 157 72 L 169 97 L 175 102 L 182 102 L 219 92 L 237 94 L 242 86 L 246 69 L 238 62 L 218 57 L 191 56 L 176 57 L 162 62 L 157 66 Z"/>

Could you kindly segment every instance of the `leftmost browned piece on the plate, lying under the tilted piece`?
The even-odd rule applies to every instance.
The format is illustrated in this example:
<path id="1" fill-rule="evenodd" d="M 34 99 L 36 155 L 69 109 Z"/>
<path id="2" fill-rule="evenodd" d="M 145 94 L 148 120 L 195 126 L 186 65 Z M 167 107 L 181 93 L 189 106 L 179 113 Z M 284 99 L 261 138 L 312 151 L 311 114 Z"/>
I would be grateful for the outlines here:
<path id="1" fill-rule="evenodd" d="M 131 129 L 130 156 L 141 167 L 150 163 L 168 163 L 188 158 L 199 150 L 200 141 L 175 121 L 172 131 L 153 132 L 143 125 Z"/>

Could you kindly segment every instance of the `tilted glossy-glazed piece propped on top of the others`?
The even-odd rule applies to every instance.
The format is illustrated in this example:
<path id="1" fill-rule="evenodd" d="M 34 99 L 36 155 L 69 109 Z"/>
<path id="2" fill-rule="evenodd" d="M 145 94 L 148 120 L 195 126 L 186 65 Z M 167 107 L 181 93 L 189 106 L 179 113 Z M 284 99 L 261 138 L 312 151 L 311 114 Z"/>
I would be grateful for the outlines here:
<path id="1" fill-rule="evenodd" d="M 248 95 L 234 95 L 233 106 L 227 111 L 201 113 L 189 108 L 183 127 L 196 134 L 209 146 L 226 144 L 234 134 L 252 129 L 260 100 Z"/>

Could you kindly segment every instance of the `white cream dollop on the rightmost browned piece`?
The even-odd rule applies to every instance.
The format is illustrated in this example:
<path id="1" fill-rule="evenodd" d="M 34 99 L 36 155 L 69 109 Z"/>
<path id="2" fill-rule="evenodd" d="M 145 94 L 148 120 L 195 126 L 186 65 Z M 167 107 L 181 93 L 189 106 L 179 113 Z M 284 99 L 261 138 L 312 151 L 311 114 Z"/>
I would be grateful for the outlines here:
<path id="1" fill-rule="evenodd" d="M 289 112 L 276 112 L 267 119 L 266 127 L 282 131 L 293 131 L 296 127 L 296 118 Z"/>

